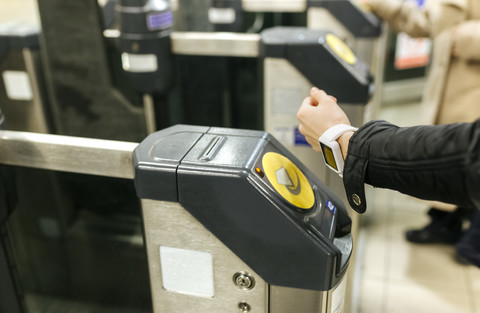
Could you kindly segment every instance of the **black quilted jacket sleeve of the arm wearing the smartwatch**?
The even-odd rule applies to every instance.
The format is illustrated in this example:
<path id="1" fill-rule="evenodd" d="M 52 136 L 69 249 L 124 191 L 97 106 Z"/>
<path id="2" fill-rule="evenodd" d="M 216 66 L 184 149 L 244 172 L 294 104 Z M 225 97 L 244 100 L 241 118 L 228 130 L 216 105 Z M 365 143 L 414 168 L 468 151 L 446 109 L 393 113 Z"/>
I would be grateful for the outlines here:
<path id="1" fill-rule="evenodd" d="M 364 184 L 425 200 L 480 207 L 480 120 L 436 126 L 363 125 L 350 139 L 343 182 L 365 212 Z"/>

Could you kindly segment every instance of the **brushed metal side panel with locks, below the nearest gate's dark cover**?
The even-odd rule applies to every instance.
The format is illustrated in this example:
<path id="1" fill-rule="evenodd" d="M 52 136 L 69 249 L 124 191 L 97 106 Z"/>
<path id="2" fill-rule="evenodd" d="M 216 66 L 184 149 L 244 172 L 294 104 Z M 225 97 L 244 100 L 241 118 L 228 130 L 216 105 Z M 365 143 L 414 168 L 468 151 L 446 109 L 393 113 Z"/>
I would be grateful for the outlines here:
<path id="1" fill-rule="evenodd" d="M 179 203 L 142 199 L 142 215 L 155 313 L 237 313 L 240 312 L 240 303 L 247 303 L 251 313 L 268 312 L 267 283 Z M 164 289 L 160 246 L 210 253 L 213 258 L 214 297 L 198 297 Z M 255 279 L 251 290 L 239 288 L 234 283 L 234 275 L 242 271 Z"/>

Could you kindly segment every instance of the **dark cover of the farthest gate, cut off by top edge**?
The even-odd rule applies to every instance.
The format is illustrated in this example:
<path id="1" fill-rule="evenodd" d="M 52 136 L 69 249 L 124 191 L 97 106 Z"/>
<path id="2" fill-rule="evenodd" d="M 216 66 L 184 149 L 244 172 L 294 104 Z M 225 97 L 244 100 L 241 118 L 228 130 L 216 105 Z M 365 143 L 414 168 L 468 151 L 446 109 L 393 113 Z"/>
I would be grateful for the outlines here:
<path id="1" fill-rule="evenodd" d="M 308 0 L 308 7 L 327 9 L 358 38 L 375 38 L 380 36 L 382 31 L 380 20 L 352 0 Z"/>

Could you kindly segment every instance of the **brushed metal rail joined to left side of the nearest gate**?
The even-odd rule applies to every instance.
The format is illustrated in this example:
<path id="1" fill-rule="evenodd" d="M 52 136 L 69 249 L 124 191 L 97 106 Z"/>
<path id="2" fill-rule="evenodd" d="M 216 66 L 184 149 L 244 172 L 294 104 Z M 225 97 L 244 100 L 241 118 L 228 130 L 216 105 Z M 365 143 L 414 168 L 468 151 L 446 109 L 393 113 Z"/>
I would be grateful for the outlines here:
<path id="1" fill-rule="evenodd" d="M 133 179 L 137 143 L 0 131 L 0 163 Z"/>

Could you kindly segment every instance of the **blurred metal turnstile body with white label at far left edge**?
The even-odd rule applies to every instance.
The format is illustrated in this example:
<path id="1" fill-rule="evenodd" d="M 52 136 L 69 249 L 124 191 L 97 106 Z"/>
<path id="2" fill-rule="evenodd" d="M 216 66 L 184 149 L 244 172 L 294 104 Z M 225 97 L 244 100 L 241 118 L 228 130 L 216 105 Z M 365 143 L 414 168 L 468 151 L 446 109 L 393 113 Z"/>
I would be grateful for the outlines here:
<path id="1" fill-rule="evenodd" d="M 34 25 L 0 24 L 0 109 L 11 130 L 50 131 L 39 34 Z"/>

